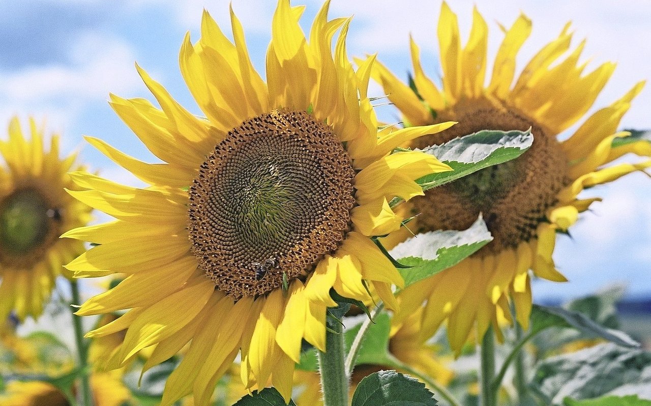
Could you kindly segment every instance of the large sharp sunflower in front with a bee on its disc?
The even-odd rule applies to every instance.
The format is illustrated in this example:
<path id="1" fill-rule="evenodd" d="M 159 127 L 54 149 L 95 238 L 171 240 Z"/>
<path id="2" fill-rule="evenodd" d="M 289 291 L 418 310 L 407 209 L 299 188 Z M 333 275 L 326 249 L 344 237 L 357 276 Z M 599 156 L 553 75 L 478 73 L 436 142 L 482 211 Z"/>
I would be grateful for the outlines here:
<path id="1" fill-rule="evenodd" d="M 387 201 L 421 195 L 414 179 L 449 168 L 424 153 L 392 151 L 452 123 L 378 131 L 367 97 L 374 57 L 353 70 L 350 19 L 328 21 L 327 9 L 308 41 L 298 23 L 303 7 L 279 1 L 267 82 L 251 66 L 236 16 L 233 44 L 204 13 L 201 39 L 193 45 L 186 36 L 180 66 L 206 118 L 138 68 L 161 109 L 115 95 L 111 106 L 165 162 L 139 162 L 89 138 L 151 186 L 72 173 L 89 190 L 70 194 L 117 218 L 65 235 L 101 244 L 68 264 L 76 276 L 127 275 L 78 312 L 130 309 L 89 333 L 126 329 L 109 367 L 151 346 L 154 365 L 190 342 L 163 405 L 189 393 L 205 404 L 240 352 L 245 387 L 271 377 L 288 399 L 301 340 L 326 349 L 331 288 L 360 300 L 370 291 L 396 307 L 390 286 L 402 279 L 369 237 L 400 227 Z"/>

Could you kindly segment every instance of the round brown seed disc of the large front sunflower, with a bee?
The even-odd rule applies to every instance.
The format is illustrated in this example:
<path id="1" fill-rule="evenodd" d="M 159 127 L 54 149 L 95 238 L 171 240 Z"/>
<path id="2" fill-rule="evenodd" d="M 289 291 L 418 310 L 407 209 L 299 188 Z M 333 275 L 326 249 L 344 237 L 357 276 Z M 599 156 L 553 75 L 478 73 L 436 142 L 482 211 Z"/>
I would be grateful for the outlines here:
<path id="1" fill-rule="evenodd" d="M 234 299 L 304 277 L 348 232 L 355 172 L 329 127 L 274 111 L 232 129 L 189 189 L 199 264 Z"/>

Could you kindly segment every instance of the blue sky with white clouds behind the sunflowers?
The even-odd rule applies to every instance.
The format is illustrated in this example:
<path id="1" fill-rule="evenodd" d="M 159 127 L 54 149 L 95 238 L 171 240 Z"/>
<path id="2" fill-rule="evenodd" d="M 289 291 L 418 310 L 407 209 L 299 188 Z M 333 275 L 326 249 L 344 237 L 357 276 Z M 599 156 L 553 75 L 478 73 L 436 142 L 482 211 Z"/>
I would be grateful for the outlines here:
<path id="1" fill-rule="evenodd" d="M 303 27 L 320 8 L 307 1 Z M 302 4 L 296 1 L 294 5 Z M 400 77 L 411 70 L 408 38 L 420 45 L 430 77 L 439 75 L 436 24 L 441 3 L 422 0 L 332 0 L 331 18 L 354 15 L 348 35 L 350 57 L 378 53 Z M 622 1 L 450 1 L 467 39 L 473 5 L 490 29 L 489 61 L 508 27 L 524 12 L 533 19 L 531 37 L 519 54 L 522 68 L 542 45 L 572 21 L 573 44 L 587 38 L 583 60 L 589 68 L 612 60 L 616 71 L 593 110 L 609 105 L 635 82 L 651 78 L 651 2 Z M 242 21 L 249 53 L 264 72 L 275 1 L 233 0 Z M 222 0 L 3 0 L 0 1 L 0 128 L 18 114 L 44 122 L 63 138 L 64 151 L 80 151 L 90 169 L 121 183 L 139 185 L 129 173 L 85 145 L 82 136 L 102 138 L 147 162 L 156 162 L 107 103 L 109 92 L 122 97 L 152 99 L 134 63 L 161 82 L 191 112 L 199 108 L 178 69 L 178 50 L 187 31 L 199 38 L 202 9 L 229 32 L 229 2 Z M 489 62 L 490 66 L 490 62 Z M 651 129 L 651 84 L 634 101 L 622 128 Z M 380 87 L 370 94 L 382 95 Z M 591 111 L 593 111 L 591 110 Z M 387 121 L 391 107 L 378 112 Z M 5 132 L 0 130 L 0 136 Z M 651 179 L 633 173 L 585 196 L 603 197 L 561 236 L 554 255 L 569 283 L 534 283 L 537 299 L 567 299 L 594 292 L 609 283 L 626 283 L 633 298 L 651 296 Z"/>

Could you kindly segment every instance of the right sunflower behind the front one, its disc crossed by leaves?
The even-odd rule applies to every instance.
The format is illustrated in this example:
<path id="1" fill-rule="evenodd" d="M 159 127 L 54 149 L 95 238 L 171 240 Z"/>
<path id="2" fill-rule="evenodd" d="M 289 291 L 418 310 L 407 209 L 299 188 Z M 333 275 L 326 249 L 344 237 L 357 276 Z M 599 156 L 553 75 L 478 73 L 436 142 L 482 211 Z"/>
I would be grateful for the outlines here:
<path id="1" fill-rule="evenodd" d="M 585 42 L 568 52 L 572 34 L 566 25 L 525 66 L 517 81 L 515 59 L 531 32 L 531 21 L 521 15 L 505 29 L 488 86 L 486 45 L 488 27 L 475 8 L 465 47 L 460 47 L 456 15 L 443 3 L 438 25 L 442 88 L 423 73 L 419 49 L 411 40 L 413 86 L 400 82 L 376 64 L 374 78 L 389 94 L 410 125 L 454 120 L 459 124 L 441 134 L 421 137 L 411 147 L 425 148 L 483 129 L 527 130 L 533 146 L 521 157 L 486 168 L 458 181 L 426 192 L 409 202 L 422 213 L 413 231 L 467 228 L 482 213 L 493 241 L 450 270 L 402 291 L 397 324 L 424 304 L 422 340 L 447 320 L 450 344 L 460 351 L 477 325 L 482 337 L 489 325 L 510 319 L 510 301 L 517 320 L 527 328 L 531 312 L 531 277 L 566 281 L 551 258 L 557 233 L 566 233 L 598 198 L 579 198 L 590 186 L 607 183 L 626 173 L 643 170 L 649 162 L 604 166 L 625 153 L 649 155 L 645 142 L 611 147 L 631 100 L 643 88 L 639 82 L 621 99 L 602 108 L 577 126 L 565 140 L 559 134 L 577 123 L 592 106 L 615 64 L 605 63 L 584 73 L 579 63 Z M 560 58 L 560 59 L 559 59 Z M 624 143 L 622 143 L 624 144 Z M 404 233 L 404 238 L 409 236 Z"/>

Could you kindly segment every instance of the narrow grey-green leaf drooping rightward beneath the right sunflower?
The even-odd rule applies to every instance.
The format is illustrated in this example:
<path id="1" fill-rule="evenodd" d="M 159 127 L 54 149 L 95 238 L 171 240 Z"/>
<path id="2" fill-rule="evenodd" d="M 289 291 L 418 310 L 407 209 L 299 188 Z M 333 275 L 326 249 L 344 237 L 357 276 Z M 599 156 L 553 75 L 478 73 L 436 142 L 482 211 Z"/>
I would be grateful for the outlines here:
<path id="1" fill-rule="evenodd" d="M 561 309 L 560 307 L 545 307 L 533 305 L 531 311 L 533 329 L 544 329 L 546 327 L 572 327 L 591 338 L 603 338 L 623 347 L 639 348 L 639 342 L 623 331 L 603 327 L 585 314 Z M 542 328 L 541 328 L 542 327 Z"/>

